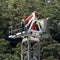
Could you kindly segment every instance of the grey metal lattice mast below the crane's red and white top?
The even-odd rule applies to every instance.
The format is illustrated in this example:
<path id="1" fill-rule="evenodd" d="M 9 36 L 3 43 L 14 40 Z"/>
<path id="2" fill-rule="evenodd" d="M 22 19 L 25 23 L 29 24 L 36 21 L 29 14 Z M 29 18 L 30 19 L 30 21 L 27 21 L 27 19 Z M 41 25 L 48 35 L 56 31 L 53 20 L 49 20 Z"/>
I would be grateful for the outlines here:
<path id="1" fill-rule="evenodd" d="M 21 60 L 40 60 L 40 40 L 34 36 L 26 36 L 21 43 Z"/>

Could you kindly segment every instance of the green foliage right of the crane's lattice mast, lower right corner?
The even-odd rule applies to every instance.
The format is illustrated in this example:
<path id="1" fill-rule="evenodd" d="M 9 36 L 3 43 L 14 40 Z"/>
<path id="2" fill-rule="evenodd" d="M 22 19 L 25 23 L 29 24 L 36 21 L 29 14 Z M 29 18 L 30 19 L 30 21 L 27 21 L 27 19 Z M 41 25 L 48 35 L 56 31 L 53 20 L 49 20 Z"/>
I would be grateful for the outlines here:
<path id="1" fill-rule="evenodd" d="M 41 40 L 41 58 L 42 59 L 60 59 L 60 43 L 51 38 Z"/>

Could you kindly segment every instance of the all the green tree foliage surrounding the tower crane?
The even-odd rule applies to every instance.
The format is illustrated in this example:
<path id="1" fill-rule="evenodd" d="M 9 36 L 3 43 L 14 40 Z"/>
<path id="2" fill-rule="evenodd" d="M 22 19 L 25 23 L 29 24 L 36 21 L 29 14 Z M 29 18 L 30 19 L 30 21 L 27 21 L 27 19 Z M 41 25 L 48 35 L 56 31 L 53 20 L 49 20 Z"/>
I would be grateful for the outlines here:
<path id="1" fill-rule="evenodd" d="M 20 60 L 21 44 L 18 43 L 12 48 L 10 42 L 3 39 L 7 35 L 11 24 L 20 23 L 23 16 L 28 16 L 31 12 L 37 11 L 38 18 L 49 18 L 49 33 L 52 35 L 48 39 L 42 39 L 41 59 L 60 60 L 60 0 L 47 2 L 46 0 L 0 0 L 0 60 Z M 11 23 L 12 22 L 12 23 Z M 57 41 L 55 41 L 57 40 Z"/>

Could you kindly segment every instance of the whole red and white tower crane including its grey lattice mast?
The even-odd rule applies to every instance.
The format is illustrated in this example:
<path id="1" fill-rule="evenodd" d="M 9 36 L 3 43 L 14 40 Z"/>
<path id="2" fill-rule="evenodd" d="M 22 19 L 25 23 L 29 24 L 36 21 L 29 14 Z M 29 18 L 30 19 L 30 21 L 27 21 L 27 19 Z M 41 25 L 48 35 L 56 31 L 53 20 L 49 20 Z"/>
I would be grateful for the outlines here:
<path id="1" fill-rule="evenodd" d="M 37 15 L 36 11 L 32 12 L 23 19 L 23 27 L 21 27 L 23 30 L 8 36 L 12 39 L 23 38 L 21 41 L 21 60 L 40 60 L 39 36 L 46 32 L 48 18 L 38 20 Z"/>

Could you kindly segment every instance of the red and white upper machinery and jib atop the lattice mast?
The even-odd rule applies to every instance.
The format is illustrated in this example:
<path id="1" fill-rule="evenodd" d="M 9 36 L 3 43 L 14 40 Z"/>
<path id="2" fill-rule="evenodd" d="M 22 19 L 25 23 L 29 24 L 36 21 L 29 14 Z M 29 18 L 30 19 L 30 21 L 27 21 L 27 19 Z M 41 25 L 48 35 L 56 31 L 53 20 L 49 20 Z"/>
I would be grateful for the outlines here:
<path id="1" fill-rule="evenodd" d="M 10 27 L 9 36 L 8 38 L 18 38 L 20 36 L 26 35 L 26 34 L 42 34 L 43 32 L 46 32 L 46 26 L 47 26 L 47 20 L 45 19 L 37 19 L 37 12 L 32 12 L 27 18 L 22 19 L 21 25 L 22 26 L 20 31 L 18 31 L 15 34 L 13 33 L 13 26 Z"/>

